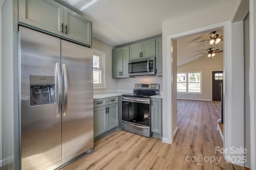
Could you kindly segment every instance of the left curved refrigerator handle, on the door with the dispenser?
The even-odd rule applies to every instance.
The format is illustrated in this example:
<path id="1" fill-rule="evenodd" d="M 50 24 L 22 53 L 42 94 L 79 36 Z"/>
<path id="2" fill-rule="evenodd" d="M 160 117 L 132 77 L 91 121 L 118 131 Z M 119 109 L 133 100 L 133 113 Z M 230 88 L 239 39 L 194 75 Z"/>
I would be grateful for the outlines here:
<path id="1" fill-rule="evenodd" d="M 57 99 L 57 117 L 60 117 L 61 102 L 62 102 L 62 88 L 61 88 L 61 70 L 60 70 L 60 63 L 56 63 L 56 71 L 57 71 L 57 77 L 58 77 L 58 92 L 56 93 L 56 99 Z"/>

